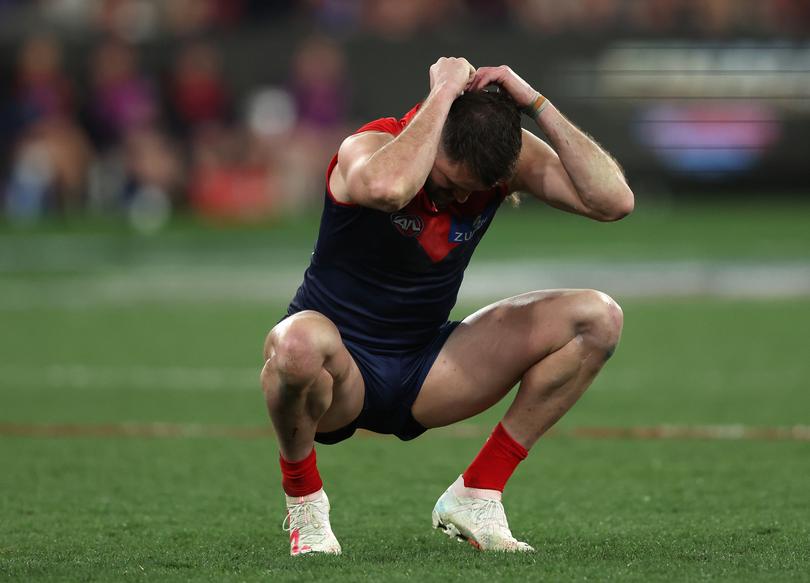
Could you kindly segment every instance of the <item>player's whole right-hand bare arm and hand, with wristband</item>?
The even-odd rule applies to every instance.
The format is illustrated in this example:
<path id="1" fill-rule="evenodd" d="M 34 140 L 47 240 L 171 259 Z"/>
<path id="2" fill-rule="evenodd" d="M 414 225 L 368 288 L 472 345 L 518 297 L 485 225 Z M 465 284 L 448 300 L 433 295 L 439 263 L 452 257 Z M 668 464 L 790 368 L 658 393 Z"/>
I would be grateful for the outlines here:
<path id="1" fill-rule="evenodd" d="M 500 84 L 521 107 L 530 106 L 537 91 L 509 67 L 483 67 L 471 90 Z M 616 161 L 594 140 L 568 121 L 552 104 L 535 116 L 552 149 L 524 130 L 523 147 L 511 183 L 551 206 L 600 221 L 615 221 L 633 210 L 633 191 Z"/>

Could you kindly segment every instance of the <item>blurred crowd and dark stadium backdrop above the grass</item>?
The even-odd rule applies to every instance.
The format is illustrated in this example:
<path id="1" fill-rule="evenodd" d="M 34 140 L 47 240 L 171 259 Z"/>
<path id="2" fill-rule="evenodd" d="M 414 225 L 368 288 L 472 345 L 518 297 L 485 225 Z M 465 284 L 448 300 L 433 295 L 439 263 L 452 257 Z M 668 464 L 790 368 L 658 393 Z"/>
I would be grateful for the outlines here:
<path id="1" fill-rule="evenodd" d="M 637 192 L 806 191 L 808 32 L 806 0 L 0 0 L 0 215 L 311 208 L 444 54 L 521 55 Z"/>

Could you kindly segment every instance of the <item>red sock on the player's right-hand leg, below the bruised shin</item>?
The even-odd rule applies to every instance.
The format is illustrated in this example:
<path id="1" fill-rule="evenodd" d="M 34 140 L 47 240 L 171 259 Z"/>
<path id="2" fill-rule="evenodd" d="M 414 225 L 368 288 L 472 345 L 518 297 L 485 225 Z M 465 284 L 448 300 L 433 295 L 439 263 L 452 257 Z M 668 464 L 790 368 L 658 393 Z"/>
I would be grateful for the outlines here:
<path id="1" fill-rule="evenodd" d="M 498 423 L 473 463 L 464 472 L 464 485 L 468 488 L 503 492 L 509 476 L 527 455 L 528 450 Z"/>

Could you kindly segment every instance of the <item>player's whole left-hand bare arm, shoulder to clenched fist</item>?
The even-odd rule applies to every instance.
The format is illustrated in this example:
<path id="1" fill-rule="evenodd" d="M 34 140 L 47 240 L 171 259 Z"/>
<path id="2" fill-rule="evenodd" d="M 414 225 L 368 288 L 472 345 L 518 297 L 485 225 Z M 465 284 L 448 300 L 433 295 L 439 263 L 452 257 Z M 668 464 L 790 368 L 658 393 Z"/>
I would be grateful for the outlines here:
<path id="1" fill-rule="evenodd" d="M 407 205 L 433 168 L 450 106 L 474 74 L 466 59 L 439 59 L 430 68 L 430 94 L 402 133 L 347 138 L 330 180 L 335 198 L 387 212 Z"/>

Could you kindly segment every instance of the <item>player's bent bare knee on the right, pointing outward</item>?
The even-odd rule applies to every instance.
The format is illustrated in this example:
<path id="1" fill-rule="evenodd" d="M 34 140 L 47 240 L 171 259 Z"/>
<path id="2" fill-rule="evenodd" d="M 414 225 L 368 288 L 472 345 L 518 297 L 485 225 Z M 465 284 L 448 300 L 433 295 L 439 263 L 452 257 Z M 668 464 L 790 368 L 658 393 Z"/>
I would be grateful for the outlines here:
<path id="1" fill-rule="evenodd" d="M 622 332 L 624 315 L 616 301 L 609 295 L 596 290 L 577 292 L 574 307 L 574 329 L 576 334 L 613 354 Z"/>

